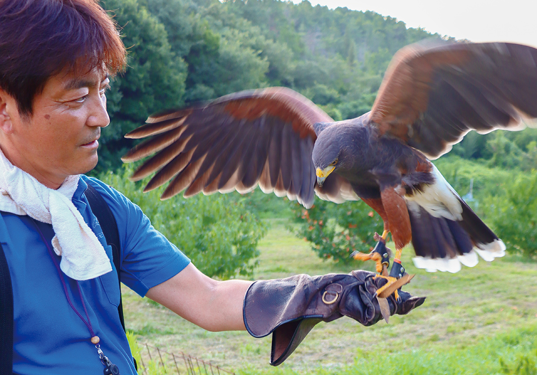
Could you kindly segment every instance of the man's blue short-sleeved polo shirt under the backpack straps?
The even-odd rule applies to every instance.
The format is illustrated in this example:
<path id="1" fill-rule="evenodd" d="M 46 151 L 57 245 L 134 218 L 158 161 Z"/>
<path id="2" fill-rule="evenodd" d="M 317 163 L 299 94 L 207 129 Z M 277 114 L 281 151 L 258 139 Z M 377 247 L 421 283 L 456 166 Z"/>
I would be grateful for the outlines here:
<path id="1" fill-rule="evenodd" d="M 93 331 L 100 347 L 121 375 L 135 374 L 127 337 L 118 315 L 120 298 L 112 249 L 107 246 L 95 215 L 84 195 L 91 184 L 110 206 L 118 223 L 122 248 L 121 282 L 142 297 L 147 291 L 177 275 L 190 260 L 153 226 L 140 207 L 95 178 L 82 176 L 72 203 L 103 244 L 113 270 L 95 279 L 79 281 Z M 49 246 L 52 225 L 37 222 Z M 95 345 L 84 322 L 69 306 L 63 285 L 45 243 L 32 219 L 2 213 L 0 241 L 13 285 L 13 372 L 25 375 L 102 373 Z M 60 263 L 60 257 L 56 256 Z M 76 282 L 66 275 L 69 297 L 84 317 Z"/>

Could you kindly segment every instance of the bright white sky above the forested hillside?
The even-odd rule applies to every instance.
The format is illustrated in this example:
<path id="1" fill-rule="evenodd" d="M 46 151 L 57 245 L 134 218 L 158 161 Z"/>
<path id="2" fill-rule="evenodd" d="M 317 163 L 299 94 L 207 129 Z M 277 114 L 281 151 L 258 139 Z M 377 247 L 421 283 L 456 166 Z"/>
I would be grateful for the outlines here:
<path id="1" fill-rule="evenodd" d="M 292 0 L 300 3 L 301 0 Z M 371 10 L 407 27 L 456 39 L 510 41 L 537 47 L 537 0 L 309 0 L 330 9 Z"/>

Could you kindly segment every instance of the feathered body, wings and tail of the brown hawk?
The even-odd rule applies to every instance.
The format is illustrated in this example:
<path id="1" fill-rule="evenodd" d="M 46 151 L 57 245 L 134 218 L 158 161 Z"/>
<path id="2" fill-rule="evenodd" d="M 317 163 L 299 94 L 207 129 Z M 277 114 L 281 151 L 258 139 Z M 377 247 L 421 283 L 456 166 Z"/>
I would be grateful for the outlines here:
<path id="1" fill-rule="evenodd" d="M 428 158 L 471 130 L 518 130 L 536 117 L 536 49 L 415 44 L 394 56 L 371 112 L 358 118 L 335 122 L 287 88 L 242 91 L 149 117 L 126 136 L 154 137 L 122 160 L 156 153 L 132 179 L 158 171 L 144 191 L 171 179 L 163 199 L 257 185 L 305 207 L 315 194 L 335 203 L 361 198 L 397 249 L 412 240 L 417 266 L 456 271 L 477 262 L 473 249 L 492 260 L 505 246 Z"/>

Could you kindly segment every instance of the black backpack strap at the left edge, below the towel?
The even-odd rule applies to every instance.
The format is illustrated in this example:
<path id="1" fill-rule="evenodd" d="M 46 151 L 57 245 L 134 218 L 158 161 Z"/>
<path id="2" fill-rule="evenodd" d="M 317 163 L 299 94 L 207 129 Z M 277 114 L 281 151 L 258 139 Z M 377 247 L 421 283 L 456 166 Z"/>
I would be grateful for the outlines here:
<path id="1" fill-rule="evenodd" d="M 13 373 L 13 289 L 0 244 L 0 374 Z"/>

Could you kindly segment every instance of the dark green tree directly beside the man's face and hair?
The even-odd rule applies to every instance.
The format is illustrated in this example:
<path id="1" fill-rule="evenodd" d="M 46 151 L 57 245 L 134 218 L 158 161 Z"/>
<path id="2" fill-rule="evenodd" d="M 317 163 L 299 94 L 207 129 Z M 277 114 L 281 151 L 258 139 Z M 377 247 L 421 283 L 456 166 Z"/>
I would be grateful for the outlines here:
<path id="1" fill-rule="evenodd" d="M 97 171 L 118 168 L 120 156 L 132 147 L 125 133 L 150 113 L 182 103 L 186 64 L 171 51 L 164 26 L 136 0 L 106 0 L 122 28 L 128 67 L 107 93 L 111 125 L 101 136 Z"/>

